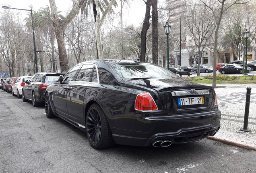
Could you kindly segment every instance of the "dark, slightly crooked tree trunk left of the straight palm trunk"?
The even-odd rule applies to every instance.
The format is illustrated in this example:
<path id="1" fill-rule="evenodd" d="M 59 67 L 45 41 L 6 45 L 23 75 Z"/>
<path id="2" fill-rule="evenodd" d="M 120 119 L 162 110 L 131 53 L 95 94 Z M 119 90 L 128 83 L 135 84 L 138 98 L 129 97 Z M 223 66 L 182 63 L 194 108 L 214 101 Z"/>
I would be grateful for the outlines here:
<path id="1" fill-rule="evenodd" d="M 149 19 L 151 18 L 150 16 L 150 9 L 151 9 L 151 0 L 147 0 L 145 2 L 146 4 L 146 12 L 145 12 L 145 18 L 141 30 L 141 37 L 140 37 L 140 61 L 145 61 L 145 56 L 146 56 L 146 38 L 147 38 L 147 30 L 149 30 Z"/>

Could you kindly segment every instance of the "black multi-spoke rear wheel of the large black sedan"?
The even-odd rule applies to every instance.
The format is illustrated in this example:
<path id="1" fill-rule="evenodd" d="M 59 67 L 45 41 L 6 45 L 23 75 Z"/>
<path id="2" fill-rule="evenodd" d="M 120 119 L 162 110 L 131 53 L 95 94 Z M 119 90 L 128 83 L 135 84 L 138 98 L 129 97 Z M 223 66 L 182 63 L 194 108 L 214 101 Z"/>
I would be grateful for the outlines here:
<path id="1" fill-rule="evenodd" d="M 91 105 L 87 112 L 86 133 L 89 143 L 95 149 L 104 149 L 115 145 L 107 118 L 96 103 Z"/>

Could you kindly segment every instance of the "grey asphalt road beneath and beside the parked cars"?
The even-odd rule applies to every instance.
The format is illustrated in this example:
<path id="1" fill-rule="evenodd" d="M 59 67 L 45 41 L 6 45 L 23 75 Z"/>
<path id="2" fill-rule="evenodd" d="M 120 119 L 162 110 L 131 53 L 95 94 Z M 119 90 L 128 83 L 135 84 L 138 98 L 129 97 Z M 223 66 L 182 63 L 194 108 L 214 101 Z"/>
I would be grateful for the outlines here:
<path id="1" fill-rule="evenodd" d="M 211 139 L 167 148 L 95 150 L 86 134 L 44 107 L 0 90 L 0 173 L 255 173 L 256 151 Z"/>

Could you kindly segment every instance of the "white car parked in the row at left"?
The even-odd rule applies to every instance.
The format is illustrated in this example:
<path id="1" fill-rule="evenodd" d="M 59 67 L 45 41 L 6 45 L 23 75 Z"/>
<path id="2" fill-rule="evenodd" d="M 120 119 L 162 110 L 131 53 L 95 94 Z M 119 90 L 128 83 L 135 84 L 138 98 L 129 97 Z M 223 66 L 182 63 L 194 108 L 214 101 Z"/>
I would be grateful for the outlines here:
<path id="1" fill-rule="evenodd" d="M 18 99 L 22 98 L 22 88 L 26 85 L 25 81 L 29 81 L 31 76 L 20 76 L 12 85 L 12 96 L 17 95 Z"/>

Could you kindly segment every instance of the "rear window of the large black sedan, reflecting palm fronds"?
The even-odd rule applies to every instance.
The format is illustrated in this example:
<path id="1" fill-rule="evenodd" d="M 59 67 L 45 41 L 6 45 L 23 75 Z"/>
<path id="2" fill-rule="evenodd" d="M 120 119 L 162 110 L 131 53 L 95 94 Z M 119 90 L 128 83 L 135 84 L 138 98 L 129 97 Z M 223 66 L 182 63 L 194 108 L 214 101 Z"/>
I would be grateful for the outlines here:
<path id="1" fill-rule="evenodd" d="M 173 72 L 153 64 L 116 64 L 114 68 L 122 78 L 146 79 L 146 78 L 178 78 Z"/>

